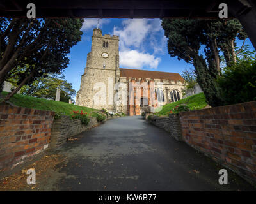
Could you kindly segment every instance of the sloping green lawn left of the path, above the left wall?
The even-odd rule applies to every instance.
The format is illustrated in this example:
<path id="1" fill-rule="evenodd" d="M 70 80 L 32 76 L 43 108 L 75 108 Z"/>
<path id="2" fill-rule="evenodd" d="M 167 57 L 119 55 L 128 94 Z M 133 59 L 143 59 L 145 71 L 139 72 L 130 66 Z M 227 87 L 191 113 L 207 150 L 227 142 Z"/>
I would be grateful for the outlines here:
<path id="1" fill-rule="evenodd" d="M 8 94 L 8 92 L 1 92 L 1 94 L 3 96 L 6 96 Z M 12 98 L 10 99 L 10 102 L 13 103 L 16 106 L 20 106 L 20 107 L 25 107 L 25 108 L 35 108 L 35 109 L 39 109 L 39 110 L 52 110 L 54 112 L 62 112 L 62 113 L 66 113 L 66 115 L 72 115 L 72 111 L 81 111 L 83 110 L 83 112 L 87 112 L 89 113 L 88 115 L 90 115 L 90 113 L 93 110 L 93 108 L 87 108 L 87 107 L 83 107 L 83 106 L 77 106 L 74 104 L 69 104 L 69 103 L 65 103 L 65 102 L 60 102 L 60 101 L 50 101 L 47 99 L 42 99 L 42 98 L 35 98 L 35 97 L 31 97 L 31 96 L 24 96 L 22 94 L 15 94 L 14 96 L 12 96 Z"/>

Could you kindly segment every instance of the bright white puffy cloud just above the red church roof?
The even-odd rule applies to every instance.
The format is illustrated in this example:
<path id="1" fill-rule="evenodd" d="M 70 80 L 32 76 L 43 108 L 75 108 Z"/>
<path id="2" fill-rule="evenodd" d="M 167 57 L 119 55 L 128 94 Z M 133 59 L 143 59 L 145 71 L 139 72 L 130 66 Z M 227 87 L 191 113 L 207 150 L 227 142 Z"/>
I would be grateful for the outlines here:
<path id="1" fill-rule="evenodd" d="M 125 68 L 142 69 L 147 66 L 148 68 L 156 69 L 161 59 L 150 55 L 148 53 L 138 52 L 137 50 L 121 51 L 120 66 Z"/>

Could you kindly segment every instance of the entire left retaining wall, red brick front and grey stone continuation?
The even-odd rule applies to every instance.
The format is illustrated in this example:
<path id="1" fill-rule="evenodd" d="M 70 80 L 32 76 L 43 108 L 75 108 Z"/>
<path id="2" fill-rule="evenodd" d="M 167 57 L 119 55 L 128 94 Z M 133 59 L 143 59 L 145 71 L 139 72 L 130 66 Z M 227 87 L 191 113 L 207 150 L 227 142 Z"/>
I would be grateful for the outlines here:
<path id="1" fill-rule="evenodd" d="M 54 120 L 54 112 L 0 105 L 0 172 L 14 168 L 24 159 L 43 152 L 49 147 L 59 147 L 67 138 L 98 126 L 90 117 L 87 126 L 80 120 L 62 116 Z M 108 117 L 107 120 L 118 116 Z"/>

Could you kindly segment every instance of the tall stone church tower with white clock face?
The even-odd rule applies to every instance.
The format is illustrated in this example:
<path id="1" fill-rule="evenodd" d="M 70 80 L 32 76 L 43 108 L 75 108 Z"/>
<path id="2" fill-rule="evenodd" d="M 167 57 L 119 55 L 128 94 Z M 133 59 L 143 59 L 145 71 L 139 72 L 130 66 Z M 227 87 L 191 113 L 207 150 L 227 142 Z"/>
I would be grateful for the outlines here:
<path id="1" fill-rule="evenodd" d="M 87 55 L 76 105 L 115 112 L 114 85 L 119 78 L 119 36 L 103 36 L 100 29 L 93 29 L 92 49 Z"/>

